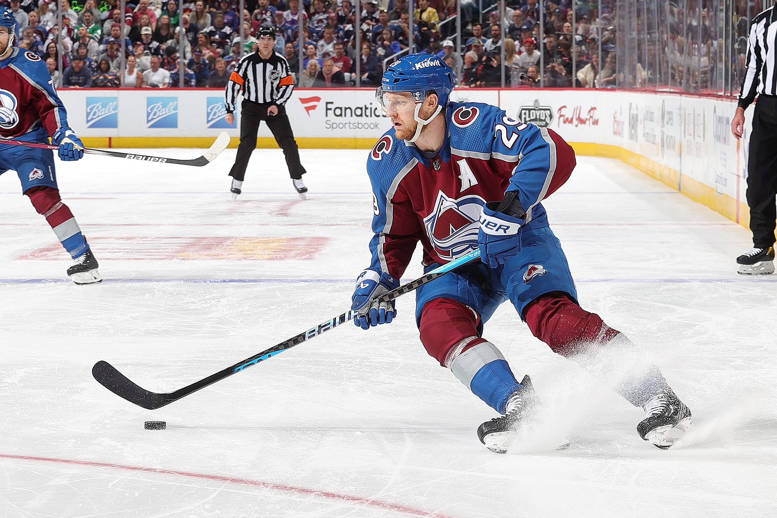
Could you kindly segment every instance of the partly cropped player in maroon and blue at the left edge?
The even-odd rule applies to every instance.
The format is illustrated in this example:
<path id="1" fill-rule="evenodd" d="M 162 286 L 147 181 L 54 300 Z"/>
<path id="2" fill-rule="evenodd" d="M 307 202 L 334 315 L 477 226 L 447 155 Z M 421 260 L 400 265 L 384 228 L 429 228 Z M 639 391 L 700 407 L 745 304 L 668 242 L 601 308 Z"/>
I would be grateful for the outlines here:
<path id="1" fill-rule="evenodd" d="M 67 205 L 62 203 L 51 150 L 2 144 L 17 140 L 59 146 L 61 160 L 82 158 L 83 144 L 68 127 L 67 113 L 40 56 L 13 46 L 16 18 L 0 7 L 0 174 L 13 170 L 22 192 L 43 214 L 75 260 L 68 268 L 76 284 L 99 283 L 97 260 Z"/>

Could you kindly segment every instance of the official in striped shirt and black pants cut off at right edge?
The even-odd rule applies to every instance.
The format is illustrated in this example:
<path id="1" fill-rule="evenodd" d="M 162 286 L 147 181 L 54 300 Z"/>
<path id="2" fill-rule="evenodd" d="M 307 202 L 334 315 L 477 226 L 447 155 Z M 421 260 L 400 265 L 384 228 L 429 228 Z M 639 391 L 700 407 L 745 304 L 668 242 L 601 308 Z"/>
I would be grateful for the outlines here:
<path id="1" fill-rule="evenodd" d="M 758 95 L 747 158 L 747 204 L 753 248 L 737 257 L 743 275 L 774 273 L 777 220 L 777 10 L 772 6 L 755 16 L 747 38 L 747 71 L 742 81 L 731 132 L 744 132 L 744 110 Z"/>

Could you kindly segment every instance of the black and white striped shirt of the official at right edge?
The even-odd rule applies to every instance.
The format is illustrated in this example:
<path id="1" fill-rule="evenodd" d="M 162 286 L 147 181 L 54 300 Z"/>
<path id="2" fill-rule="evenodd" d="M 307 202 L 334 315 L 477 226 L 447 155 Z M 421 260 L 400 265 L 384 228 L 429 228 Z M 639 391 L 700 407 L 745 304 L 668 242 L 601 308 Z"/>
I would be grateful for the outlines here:
<path id="1" fill-rule="evenodd" d="M 770 7 L 755 16 L 747 39 L 747 61 L 738 106 L 747 108 L 756 94 L 777 96 L 777 20 Z"/>

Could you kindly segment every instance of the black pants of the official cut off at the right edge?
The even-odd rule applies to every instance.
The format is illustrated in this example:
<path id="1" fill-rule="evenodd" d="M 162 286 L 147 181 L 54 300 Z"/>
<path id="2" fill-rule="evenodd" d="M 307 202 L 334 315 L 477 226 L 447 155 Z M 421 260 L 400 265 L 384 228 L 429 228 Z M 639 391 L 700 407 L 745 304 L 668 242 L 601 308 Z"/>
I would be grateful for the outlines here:
<path id="1" fill-rule="evenodd" d="M 775 243 L 777 195 L 777 97 L 758 96 L 747 159 L 747 204 L 753 246 L 766 249 Z"/>

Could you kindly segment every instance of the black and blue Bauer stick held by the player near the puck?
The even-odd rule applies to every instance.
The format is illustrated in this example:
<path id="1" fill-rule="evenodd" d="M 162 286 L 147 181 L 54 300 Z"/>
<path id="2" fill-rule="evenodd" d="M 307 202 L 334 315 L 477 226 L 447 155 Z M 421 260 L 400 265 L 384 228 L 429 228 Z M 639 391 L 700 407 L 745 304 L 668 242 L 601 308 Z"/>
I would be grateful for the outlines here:
<path id="1" fill-rule="evenodd" d="M 443 276 L 445 273 L 457 269 L 459 266 L 464 266 L 471 262 L 476 262 L 479 259 L 479 250 L 469 252 L 469 254 L 466 256 L 459 257 L 454 261 L 448 262 L 446 265 L 433 269 L 426 275 L 420 276 L 416 280 L 403 284 L 395 290 L 391 290 L 389 293 L 383 294 L 376 300 L 380 302 L 392 301 L 400 295 L 406 294 L 409 291 L 413 291 L 417 287 L 423 286 L 426 283 L 430 283 L 431 281 Z M 94 378 L 99 381 L 103 387 L 113 392 L 113 394 L 120 396 L 121 398 L 124 398 L 128 402 L 134 403 L 135 405 L 148 408 L 149 410 L 154 410 L 155 408 L 160 408 L 162 406 L 169 405 L 172 402 L 178 401 L 180 398 L 200 390 L 200 388 L 205 388 L 209 384 L 215 383 L 216 381 L 221 381 L 225 377 L 232 376 L 232 374 L 238 373 L 241 370 L 251 367 L 252 365 L 256 365 L 256 363 L 259 363 L 260 361 L 267 360 L 267 358 L 275 356 L 276 354 L 283 353 L 285 350 L 291 349 L 301 342 L 312 339 L 314 336 L 318 336 L 322 332 L 329 331 L 329 329 L 333 329 L 343 322 L 348 322 L 357 314 L 358 311 L 346 311 L 343 313 L 343 315 L 332 318 L 331 320 L 327 320 L 322 324 L 316 325 L 313 329 L 308 329 L 308 331 L 301 332 L 293 338 L 280 342 L 277 346 L 263 350 L 259 354 L 251 356 L 250 358 L 246 358 L 246 360 L 242 360 L 241 362 L 235 363 L 235 365 L 227 367 L 224 370 L 219 370 L 217 373 L 211 374 L 210 376 L 200 381 L 196 381 L 184 388 L 179 388 L 177 391 L 164 393 L 147 391 L 145 388 L 141 388 L 137 384 L 134 384 L 128 377 L 124 376 L 124 374 L 121 374 L 116 369 L 116 367 L 113 367 L 113 365 L 106 361 L 99 361 L 95 363 L 94 367 L 92 367 L 92 376 L 94 376 Z"/>

